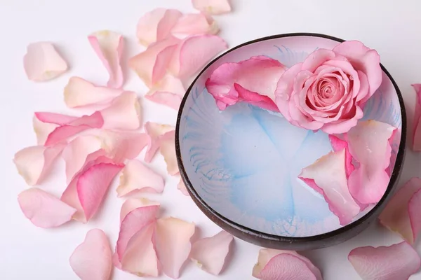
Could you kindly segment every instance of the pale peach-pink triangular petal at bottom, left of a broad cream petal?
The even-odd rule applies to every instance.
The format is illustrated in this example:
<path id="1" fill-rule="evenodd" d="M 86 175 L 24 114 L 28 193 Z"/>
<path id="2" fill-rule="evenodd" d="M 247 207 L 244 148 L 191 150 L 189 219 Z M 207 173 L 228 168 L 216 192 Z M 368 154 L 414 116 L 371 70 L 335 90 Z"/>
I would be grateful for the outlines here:
<path id="1" fill-rule="evenodd" d="M 155 224 L 150 223 L 128 241 L 121 260 L 121 269 L 138 276 L 159 276 L 158 258 L 154 248 Z"/>

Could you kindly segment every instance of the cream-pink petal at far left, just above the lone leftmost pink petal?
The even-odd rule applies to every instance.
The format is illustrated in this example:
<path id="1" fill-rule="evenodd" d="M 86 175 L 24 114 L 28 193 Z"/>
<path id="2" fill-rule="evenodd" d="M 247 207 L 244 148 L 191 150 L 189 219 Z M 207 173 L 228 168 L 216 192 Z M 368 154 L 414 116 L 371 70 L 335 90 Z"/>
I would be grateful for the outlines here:
<path id="1" fill-rule="evenodd" d="M 55 158 L 65 148 L 64 144 L 51 147 L 31 146 L 23 148 L 15 153 L 13 162 L 20 176 L 25 179 L 29 186 L 40 183 L 51 169 Z"/>

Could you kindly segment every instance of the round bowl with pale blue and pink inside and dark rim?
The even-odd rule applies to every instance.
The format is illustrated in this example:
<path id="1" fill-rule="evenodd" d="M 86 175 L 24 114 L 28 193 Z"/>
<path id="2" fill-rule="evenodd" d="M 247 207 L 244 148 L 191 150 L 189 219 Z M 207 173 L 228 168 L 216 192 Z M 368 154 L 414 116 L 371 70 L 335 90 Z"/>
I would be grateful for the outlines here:
<path id="1" fill-rule="evenodd" d="M 383 81 L 364 107 L 364 119 L 398 128 L 391 179 L 380 202 L 342 226 L 323 197 L 297 177 L 331 151 L 328 134 L 290 125 L 279 113 L 246 103 L 220 111 L 205 83 L 225 62 L 266 55 L 286 66 L 317 48 L 343 40 L 323 34 L 281 34 L 243 43 L 210 62 L 187 90 L 178 113 L 175 151 L 192 200 L 210 220 L 245 241 L 267 248 L 307 250 L 333 246 L 375 221 L 401 174 L 406 112 L 398 86 L 382 66 Z"/>

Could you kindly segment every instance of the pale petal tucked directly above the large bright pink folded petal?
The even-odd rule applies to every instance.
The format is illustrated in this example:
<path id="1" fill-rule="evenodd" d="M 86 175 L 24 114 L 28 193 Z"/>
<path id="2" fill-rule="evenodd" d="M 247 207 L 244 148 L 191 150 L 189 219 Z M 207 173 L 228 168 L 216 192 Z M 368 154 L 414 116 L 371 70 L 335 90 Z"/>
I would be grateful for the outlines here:
<path id="1" fill-rule="evenodd" d="M 67 144 L 62 152 L 62 158 L 66 163 L 67 183 L 70 183 L 74 174 L 85 165 L 88 155 L 100 150 L 101 144 L 98 137 L 91 135 L 76 137 Z"/>

